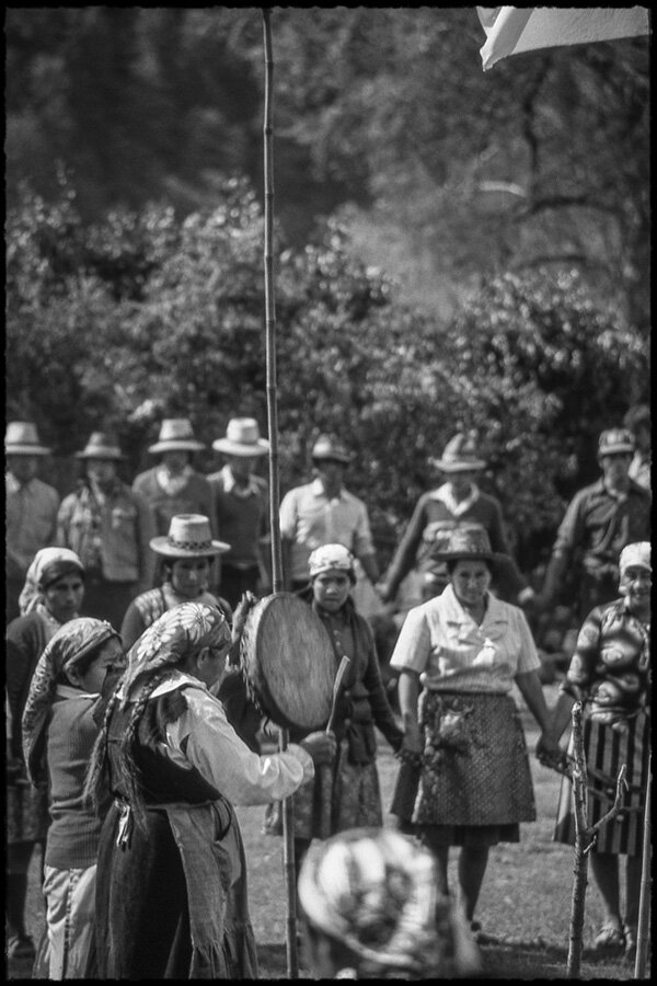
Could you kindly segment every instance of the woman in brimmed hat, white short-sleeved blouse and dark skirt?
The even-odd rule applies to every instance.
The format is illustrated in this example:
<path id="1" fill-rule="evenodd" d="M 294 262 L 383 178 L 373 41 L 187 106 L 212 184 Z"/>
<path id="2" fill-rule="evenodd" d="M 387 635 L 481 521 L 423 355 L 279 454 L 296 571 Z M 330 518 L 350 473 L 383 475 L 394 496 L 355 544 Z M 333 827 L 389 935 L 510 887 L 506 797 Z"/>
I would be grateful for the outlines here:
<path id="1" fill-rule="evenodd" d="M 391 812 L 438 860 L 448 891 L 451 846 L 460 848 L 459 897 L 474 913 L 498 842 L 517 842 L 535 819 L 518 687 L 544 742 L 550 716 L 540 658 L 522 610 L 489 592 L 498 555 L 485 530 L 456 528 L 441 558 L 449 585 L 411 609 L 391 667 L 400 672 L 405 736 Z"/>

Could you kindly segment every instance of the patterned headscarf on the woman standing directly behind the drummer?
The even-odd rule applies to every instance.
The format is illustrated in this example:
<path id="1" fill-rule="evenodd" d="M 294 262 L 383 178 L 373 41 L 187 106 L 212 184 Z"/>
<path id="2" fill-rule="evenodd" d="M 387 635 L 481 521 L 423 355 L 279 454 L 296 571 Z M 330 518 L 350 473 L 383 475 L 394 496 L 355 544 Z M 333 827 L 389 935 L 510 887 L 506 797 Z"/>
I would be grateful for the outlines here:
<path id="1" fill-rule="evenodd" d="M 80 617 L 64 623 L 41 655 L 22 720 L 23 755 L 27 776 L 33 783 L 43 778 L 45 733 L 59 676 L 112 639 L 120 641 L 119 634 L 106 620 Z"/>

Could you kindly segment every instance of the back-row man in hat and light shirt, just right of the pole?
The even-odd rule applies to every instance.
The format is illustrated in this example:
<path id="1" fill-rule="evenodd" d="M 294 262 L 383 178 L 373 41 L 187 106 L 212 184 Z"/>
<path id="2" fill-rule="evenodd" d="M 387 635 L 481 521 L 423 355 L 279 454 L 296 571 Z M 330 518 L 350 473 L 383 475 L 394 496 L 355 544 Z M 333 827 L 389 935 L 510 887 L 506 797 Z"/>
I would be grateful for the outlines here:
<path id="1" fill-rule="evenodd" d="M 379 565 L 365 503 L 343 485 L 351 457 L 335 437 L 320 435 L 311 460 L 314 479 L 289 490 L 280 503 L 280 540 L 285 587 L 308 586 L 308 559 L 323 544 L 344 544 L 372 584 Z"/>

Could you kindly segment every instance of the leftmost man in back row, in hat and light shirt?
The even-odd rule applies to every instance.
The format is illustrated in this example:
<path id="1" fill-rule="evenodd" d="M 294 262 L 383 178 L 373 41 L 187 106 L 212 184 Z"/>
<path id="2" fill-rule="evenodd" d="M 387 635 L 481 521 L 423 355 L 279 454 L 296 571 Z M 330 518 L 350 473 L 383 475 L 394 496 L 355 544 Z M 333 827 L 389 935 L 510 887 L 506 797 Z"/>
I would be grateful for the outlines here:
<path id="1" fill-rule="evenodd" d="M 5 620 L 20 616 L 19 596 L 37 551 L 55 543 L 59 493 L 38 479 L 50 449 L 38 439 L 31 421 L 10 421 L 4 434 Z"/>

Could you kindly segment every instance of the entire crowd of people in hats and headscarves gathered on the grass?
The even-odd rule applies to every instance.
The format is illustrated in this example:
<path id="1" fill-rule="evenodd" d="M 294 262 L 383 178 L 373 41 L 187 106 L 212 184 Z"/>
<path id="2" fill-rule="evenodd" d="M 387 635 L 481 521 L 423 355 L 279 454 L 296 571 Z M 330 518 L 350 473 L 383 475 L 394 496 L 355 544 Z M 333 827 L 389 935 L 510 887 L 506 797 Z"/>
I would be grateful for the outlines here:
<path id="1" fill-rule="evenodd" d="M 330 723 L 291 730 L 283 752 L 263 753 L 268 716 L 241 660 L 249 610 L 272 593 L 257 422 L 229 421 L 212 443 L 222 468 L 206 474 L 192 423 L 162 421 L 148 448 L 157 463 L 131 485 L 115 436 L 94 432 L 61 500 L 38 477 L 50 449 L 34 423 L 9 423 L 8 956 L 54 979 L 256 977 L 234 807 L 267 805 L 277 834 L 289 798 L 318 974 L 476 975 L 491 847 L 519 841 L 520 824 L 535 819 L 514 686 L 546 764 L 572 759 L 572 737 L 567 750 L 561 741 L 581 703 L 590 824 L 626 765 L 621 812 L 590 859 L 604 908 L 593 951 L 632 956 L 649 782 L 649 437 L 643 405 L 602 432 L 600 479 L 567 506 L 534 588 L 499 502 L 480 486 L 486 462 L 473 434 L 433 460 L 442 481 L 410 512 L 384 573 L 368 507 L 345 486 L 353 457 L 321 435 L 309 482 L 280 502 L 284 589 L 324 628 L 332 676 L 347 670 Z M 532 620 L 554 606 L 566 572 L 580 630 L 551 709 Z M 394 701 L 366 599 L 395 620 Z M 399 760 L 390 805 L 377 732 Z M 554 838 L 572 845 L 564 772 Z M 25 924 L 35 847 L 38 943 Z"/>

